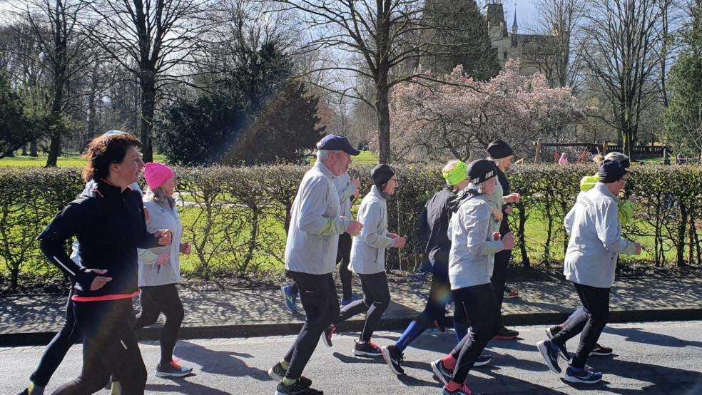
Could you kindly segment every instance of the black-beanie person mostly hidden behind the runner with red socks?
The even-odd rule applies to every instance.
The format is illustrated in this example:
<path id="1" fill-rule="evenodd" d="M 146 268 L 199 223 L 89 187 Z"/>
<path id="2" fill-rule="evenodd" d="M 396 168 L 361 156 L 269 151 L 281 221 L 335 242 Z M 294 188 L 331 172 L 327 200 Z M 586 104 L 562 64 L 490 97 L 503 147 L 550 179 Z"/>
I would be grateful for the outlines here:
<path id="1" fill-rule="evenodd" d="M 497 220 L 494 232 L 499 232 L 501 236 L 507 235 L 509 230 L 509 220 L 507 216 L 512 212 L 512 203 L 518 203 L 522 198 L 519 193 L 510 193 L 509 180 L 504 173 L 512 167 L 514 153 L 509 144 L 503 140 L 494 140 L 487 146 L 488 160 L 494 163 L 497 170 L 497 185 L 490 195 L 490 206 Z M 504 299 L 504 284 L 507 282 L 507 267 L 512 259 L 512 249 L 502 250 L 495 254 L 494 270 L 492 272 L 492 288 L 497 298 L 497 316 L 499 320 L 499 331 L 494 335 L 495 339 L 511 340 L 519 336 L 519 332 L 514 329 L 507 329 L 502 325 L 502 301 Z"/>

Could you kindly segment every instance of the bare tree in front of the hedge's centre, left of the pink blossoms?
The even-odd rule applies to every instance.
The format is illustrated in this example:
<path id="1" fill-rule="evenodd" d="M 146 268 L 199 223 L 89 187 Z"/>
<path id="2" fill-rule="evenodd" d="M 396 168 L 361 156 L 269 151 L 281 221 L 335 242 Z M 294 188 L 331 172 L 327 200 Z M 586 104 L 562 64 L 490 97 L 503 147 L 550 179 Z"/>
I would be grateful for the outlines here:
<path id="1" fill-rule="evenodd" d="M 342 96 L 357 98 L 375 110 L 378 159 L 390 163 L 390 90 L 407 81 L 434 81 L 418 69 L 397 72 L 417 57 L 427 54 L 427 42 L 420 38 L 428 26 L 422 21 L 423 0 L 272 0 L 286 11 L 296 11 L 300 34 L 307 37 L 304 48 L 328 51 L 334 58 L 317 63 L 307 74 L 335 71 L 338 83 L 325 88 Z M 437 53 L 432 53 L 437 55 Z M 448 53 L 447 53 L 448 55 Z M 361 62 L 355 62 L 361 60 Z M 358 79 L 375 86 L 370 95 L 355 89 Z"/>

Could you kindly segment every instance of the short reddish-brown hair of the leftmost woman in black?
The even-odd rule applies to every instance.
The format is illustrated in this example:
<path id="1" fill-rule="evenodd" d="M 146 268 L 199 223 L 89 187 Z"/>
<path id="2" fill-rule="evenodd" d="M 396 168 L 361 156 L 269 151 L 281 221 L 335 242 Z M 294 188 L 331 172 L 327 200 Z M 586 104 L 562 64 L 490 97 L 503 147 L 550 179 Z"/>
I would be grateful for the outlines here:
<path id="1" fill-rule="evenodd" d="M 99 181 L 110 174 L 110 165 L 124 160 L 131 147 L 141 148 L 141 141 L 128 133 L 101 135 L 88 144 L 85 158 L 88 164 L 83 168 L 83 180 Z"/>

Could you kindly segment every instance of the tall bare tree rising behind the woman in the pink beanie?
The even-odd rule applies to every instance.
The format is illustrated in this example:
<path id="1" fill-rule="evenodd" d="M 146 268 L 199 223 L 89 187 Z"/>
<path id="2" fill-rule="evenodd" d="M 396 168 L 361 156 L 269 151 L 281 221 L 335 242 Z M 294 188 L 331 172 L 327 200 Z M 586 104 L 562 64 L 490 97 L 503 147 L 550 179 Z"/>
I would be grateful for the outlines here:
<path id="1" fill-rule="evenodd" d="M 200 48 L 198 39 L 215 19 L 207 0 L 81 0 L 97 26 L 93 39 L 137 76 L 140 133 L 145 161 L 153 160 L 152 134 L 159 89 L 183 82 Z"/>

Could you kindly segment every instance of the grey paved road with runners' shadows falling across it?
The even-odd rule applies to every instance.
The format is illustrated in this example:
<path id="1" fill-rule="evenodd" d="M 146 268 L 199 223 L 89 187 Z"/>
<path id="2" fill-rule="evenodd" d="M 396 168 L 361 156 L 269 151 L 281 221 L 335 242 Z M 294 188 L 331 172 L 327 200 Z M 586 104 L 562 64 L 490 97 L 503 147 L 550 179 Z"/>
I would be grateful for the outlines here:
<path id="1" fill-rule="evenodd" d="M 601 343 L 614 347 L 614 357 L 591 358 L 589 364 L 605 372 L 602 384 L 571 386 L 552 374 L 536 352 L 534 344 L 544 337 L 543 327 L 517 327 L 517 342 L 493 341 L 494 356 L 489 368 L 477 368 L 469 385 L 482 394 L 702 394 L 702 322 L 654 322 L 612 324 Z M 389 344 L 397 332 L 377 334 L 378 344 Z M 175 354 L 182 363 L 194 366 L 185 379 L 148 378 L 148 394 L 273 394 L 275 383 L 266 371 L 290 347 L 294 337 L 248 339 L 202 339 L 178 343 Z M 406 376 L 390 373 L 382 359 L 362 359 L 350 350 L 354 334 L 335 337 L 327 349 L 321 342 L 305 370 L 315 386 L 326 394 L 439 394 L 429 361 L 454 344 L 452 332 L 427 333 L 405 352 Z M 575 342 L 570 344 L 576 347 Z M 0 349 L 0 394 L 21 389 L 39 360 L 43 347 Z M 151 369 L 158 360 L 158 344 L 144 342 L 142 352 Z M 66 356 L 49 384 L 54 389 L 78 374 L 81 347 Z M 102 391 L 108 394 L 107 391 Z"/>

